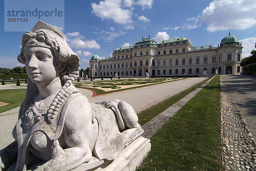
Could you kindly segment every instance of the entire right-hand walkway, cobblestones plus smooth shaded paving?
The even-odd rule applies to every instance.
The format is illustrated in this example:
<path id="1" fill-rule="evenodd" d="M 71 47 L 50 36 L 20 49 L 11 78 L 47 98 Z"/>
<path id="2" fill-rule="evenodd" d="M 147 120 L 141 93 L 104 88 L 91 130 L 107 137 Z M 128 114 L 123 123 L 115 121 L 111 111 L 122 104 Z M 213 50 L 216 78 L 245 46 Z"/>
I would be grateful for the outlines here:
<path id="1" fill-rule="evenodd" d="M 256 77 L 221 76 L 222 164 L 225 171 L 256 170 L 255 89 Z"/>

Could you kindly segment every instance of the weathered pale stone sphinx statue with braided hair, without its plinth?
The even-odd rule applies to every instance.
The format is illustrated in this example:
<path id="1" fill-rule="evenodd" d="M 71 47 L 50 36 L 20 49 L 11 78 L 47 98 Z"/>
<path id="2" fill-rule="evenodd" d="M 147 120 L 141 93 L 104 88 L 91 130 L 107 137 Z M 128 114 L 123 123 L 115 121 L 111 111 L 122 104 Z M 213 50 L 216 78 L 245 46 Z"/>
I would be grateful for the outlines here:
<path id="1" fill-rule="evenodd" d="M 73 86 L 80 61 L 60 30 L 39 20 L 21 44 L 26 98 L 12 132 L 15 142 L 0 151 L 0 170 L 70 171 L 82 164 L 90 170 L 118 157 L 143 133 L 130 104 L 90 104 Z"/>

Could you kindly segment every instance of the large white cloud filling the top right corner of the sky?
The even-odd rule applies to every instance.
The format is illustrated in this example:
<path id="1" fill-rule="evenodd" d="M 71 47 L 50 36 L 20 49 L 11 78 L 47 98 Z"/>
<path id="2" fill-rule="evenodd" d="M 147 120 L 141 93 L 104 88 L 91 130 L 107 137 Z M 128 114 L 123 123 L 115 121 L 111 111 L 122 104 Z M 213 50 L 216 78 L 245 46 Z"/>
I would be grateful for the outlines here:
<path id="1" fill-rule="evenodd" d="M 214 0 L 207 6 L 197 22 L 207 23 L 207 30 L 247 29 L 256 24 L 255 0 Z M 193 28 L 195 25 L 190 24 Z"/>

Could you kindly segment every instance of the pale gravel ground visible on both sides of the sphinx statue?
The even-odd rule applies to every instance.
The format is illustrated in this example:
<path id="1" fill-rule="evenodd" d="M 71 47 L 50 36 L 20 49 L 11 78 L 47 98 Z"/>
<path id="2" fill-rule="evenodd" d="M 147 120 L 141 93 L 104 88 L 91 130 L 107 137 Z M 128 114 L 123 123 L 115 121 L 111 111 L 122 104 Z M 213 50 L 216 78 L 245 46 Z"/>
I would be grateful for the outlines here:
<path id="1" fill-rule="evenodd" d="M 90 90 L 83 89 L 82 93 L 87 96 L 90 103 L 95 103 L 105 99 L 120 99 L 131 104 L 136 113 L 140 113 L 140 111 L 168 99 L 169 97 L 174 96 L 175 94 L 180 93 L 189 87 L 192 87 L 204 79 L 206 78 L 187 78 L 96 97 L 91 97 L 92 92 Z M 16 107 L 15 109 L 0 113 L 0 136 L 3 137 L 0 142 L 0 149 L 3 149 L 14 141 L 12 137 L 12 129 L 17 121 L 18 111 L 19 107 Z"/>

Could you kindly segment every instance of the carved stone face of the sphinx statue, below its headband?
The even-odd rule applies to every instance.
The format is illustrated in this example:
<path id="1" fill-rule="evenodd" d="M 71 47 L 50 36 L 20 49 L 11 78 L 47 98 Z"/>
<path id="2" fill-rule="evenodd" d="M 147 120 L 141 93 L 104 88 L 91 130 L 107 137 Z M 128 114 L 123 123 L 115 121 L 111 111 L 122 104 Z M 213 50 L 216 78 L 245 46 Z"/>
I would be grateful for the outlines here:
<path id="1" fill-rule="evenodd" d="M 23 55 L 26 58 L 26 72 L 35 84 L 49 84 L 58 73 L 50 49 L 44 47 L 27 47 Z"/>

